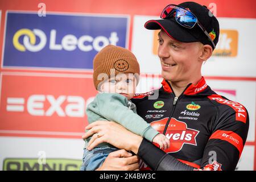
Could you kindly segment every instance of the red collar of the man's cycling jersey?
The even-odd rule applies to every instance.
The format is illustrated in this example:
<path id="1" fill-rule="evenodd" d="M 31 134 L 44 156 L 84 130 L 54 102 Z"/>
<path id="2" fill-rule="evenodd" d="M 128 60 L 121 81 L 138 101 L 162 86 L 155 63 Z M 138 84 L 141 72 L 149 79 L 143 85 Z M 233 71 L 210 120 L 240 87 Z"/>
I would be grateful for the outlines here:
<path id="1" fill-rule="evenodd" d="M 172 87 L 167 80 L 163 79 L 162 85 L 163 85 L 164 92 L 167 92 L 167 93 L 173 92 Z M 207 86 L 208 85 L 205 82 L 204 77 L 202 76 L 201 80 L 196 85 L 193 85 L 193 84 L 189 85 L 183 94 L 192 96 L 200 92 L 203 92 L 207 88 Z"/>

